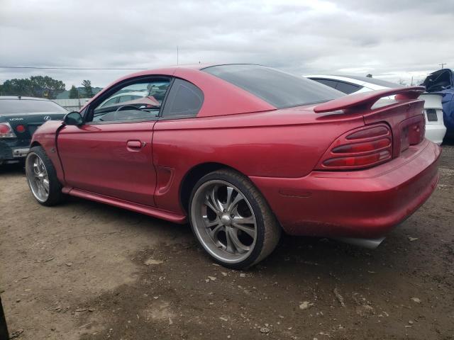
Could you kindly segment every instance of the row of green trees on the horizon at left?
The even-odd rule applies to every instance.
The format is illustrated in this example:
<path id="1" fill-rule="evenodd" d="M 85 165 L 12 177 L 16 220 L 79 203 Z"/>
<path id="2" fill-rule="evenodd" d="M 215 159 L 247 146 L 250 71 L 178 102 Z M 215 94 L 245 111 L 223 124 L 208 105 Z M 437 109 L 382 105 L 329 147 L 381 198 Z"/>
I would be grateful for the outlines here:
<path id="1" fill-rule="evenodd" d="M 92 82 L 82 81 L 84 88 L 84 98 L 94 96 Z M 66 90 L 65 83 L 61 80 L 52 79 L 48 76 L 32 76 L 25 79 L 9 79 L 0 84 L 0 96 L 29 96 L 38 98 L 55 99 L 58 94 Z M 79 98 L 79 90 L 72 85 L 70 98 Z"/>

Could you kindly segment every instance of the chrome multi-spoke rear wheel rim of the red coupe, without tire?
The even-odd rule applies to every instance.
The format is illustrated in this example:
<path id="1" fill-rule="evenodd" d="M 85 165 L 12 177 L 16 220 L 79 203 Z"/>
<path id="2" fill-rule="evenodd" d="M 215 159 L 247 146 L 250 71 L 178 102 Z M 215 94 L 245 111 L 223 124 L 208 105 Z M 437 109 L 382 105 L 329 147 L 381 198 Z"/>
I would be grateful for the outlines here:
<path id="1" fill-rule="evenodd" d="M 248 258 L 257 242 L 257 221 L 243 193 L 231 183 L 206 181 L 191 205 L 196 237 L 214 258 L 238 263 Z"/>

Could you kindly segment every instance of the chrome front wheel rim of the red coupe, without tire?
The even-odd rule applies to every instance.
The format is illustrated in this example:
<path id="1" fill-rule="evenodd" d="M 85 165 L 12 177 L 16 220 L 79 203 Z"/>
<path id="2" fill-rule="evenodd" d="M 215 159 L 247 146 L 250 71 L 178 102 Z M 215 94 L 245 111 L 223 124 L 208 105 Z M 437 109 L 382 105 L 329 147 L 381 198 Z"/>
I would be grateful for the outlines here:
<path id="1" fill-rule="evenodd" d="M 49 197 L 49 176 L 43 160 L 40 159 L 38 154 L 28 154 L 26 175 L 33 196 L 40 202 L 45 202 Z"/>

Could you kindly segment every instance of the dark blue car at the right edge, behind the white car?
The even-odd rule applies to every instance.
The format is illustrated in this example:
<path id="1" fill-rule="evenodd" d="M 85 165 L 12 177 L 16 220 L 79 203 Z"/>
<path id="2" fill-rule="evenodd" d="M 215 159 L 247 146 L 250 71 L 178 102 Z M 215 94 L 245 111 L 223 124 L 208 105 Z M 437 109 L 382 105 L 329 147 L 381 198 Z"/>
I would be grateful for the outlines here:
<path id="1" fill-rule="evenodd" d="M 454 137 L 454 74 L 450 69 L 439 69 L 429 74 L 422 84 L 429 93 L 443 96 L 443 119 L 448 129 L 447 135 Z"/>

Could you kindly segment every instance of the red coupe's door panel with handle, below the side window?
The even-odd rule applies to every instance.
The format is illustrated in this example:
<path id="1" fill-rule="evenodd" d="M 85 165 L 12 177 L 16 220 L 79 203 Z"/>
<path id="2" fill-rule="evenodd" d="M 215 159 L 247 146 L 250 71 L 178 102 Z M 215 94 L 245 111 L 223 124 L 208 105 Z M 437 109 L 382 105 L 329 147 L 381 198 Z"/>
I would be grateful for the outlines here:
<path id="1" fill-rule="evenodd" d="M 67 185 L 155 205 L 152 137 L 155 121 L 65 126 L 57 148 Z"/>

